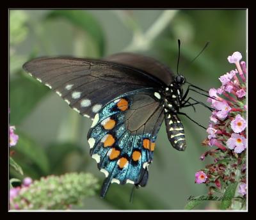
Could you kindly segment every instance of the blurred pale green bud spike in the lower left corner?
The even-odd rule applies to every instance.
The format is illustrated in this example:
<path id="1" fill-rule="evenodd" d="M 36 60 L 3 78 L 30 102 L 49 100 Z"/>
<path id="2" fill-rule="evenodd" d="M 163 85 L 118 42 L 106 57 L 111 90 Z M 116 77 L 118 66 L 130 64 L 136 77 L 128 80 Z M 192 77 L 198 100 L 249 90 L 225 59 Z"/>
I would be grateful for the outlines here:
<path id="1" fill-rule="evenodd" d="M 11 209 L 22 210 L 61 210 L 71 205 L 81 205 L 83 197 L 95 195 L 99 189 L 97 178 L 90 173 L 67 173 L 35 180 L 28 187 L 21 187 L 19 193 L 10 201 Z"/>

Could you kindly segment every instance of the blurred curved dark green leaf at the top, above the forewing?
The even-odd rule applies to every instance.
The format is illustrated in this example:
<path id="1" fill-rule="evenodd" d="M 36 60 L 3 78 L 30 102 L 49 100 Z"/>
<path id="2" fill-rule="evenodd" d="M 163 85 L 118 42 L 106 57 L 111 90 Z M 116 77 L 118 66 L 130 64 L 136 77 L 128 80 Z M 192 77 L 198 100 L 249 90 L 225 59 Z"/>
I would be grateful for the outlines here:
<path id="1" fill-rule="evenodd" d="M 82 10 L 54 10 L 50 12 L 46 18 L 64 18 L 74 26 L 77 26 L 77 28 L 83 29 L 83 31 L 85 31 L 92 39 L 95 40 L 99 55 L 104 55 L 104 33 L 99 21 L 90 13 Z"/>

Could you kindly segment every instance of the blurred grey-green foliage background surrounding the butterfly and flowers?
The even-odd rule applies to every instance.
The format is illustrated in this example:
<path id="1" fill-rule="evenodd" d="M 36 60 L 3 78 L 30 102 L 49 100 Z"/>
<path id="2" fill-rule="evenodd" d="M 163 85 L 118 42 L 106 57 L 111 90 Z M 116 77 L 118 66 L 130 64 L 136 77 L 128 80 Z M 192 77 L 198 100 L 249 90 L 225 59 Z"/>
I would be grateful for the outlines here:
<path id="1" fill-rule="evenodd" d="M 23 63 L 38 56 L 102 58 L 130 51 L 152 56 L 176 72 L 178 38 L 180 72 L 184 68 L 186 79 L 206 90 L 218 88 L 218 77 L 234 68 L 227 56 L 240 51 L 246 58 L 246 10 L 10 10 L 10 124 L 20 136 L 12 150 L 24 177 L 88 171 L 100 183 L 104 179 L 89 155 L 86 136 L 92 121 L 24 74 Z M 209 47 L 186 68 L 207 41 Z M 206 101 L 196 93 L 191 96 Z M 184 112 L 207 127 L 210 112 L 204 107 L 197 106 L 196 113 L 192 108 Z M 195 172 L 211 162 L 199 160 L 207 150 L 200 145 L 207 133 L 180 118 L 186 151 L 172 148 L 163 123 L 148 184 L 135 191 L 133 203 L 129 203 L 131 184 L 112 184 L 105 200 L 95 196 L 72 208 L 183 209 L 190 195 L 207 193 L 205 185 L 194 184 Z M 13 169 L 10 176 L 24 178 Z M 204 203 L 197 208 L 215 205 Z"/>

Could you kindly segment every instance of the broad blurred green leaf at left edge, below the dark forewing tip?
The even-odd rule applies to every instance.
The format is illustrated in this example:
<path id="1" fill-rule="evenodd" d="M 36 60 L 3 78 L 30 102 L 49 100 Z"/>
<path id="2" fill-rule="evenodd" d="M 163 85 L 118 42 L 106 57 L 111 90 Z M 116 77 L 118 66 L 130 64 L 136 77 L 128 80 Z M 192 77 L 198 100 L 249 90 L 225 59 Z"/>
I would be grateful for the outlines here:
<path id="1" fill-rule="evenodd" d="M 31 79 L 30 79 L 31 78 Z M 45 97 L 49 88 L 32 77 L 19 74 L 10 81 L 10 123 L 17 125 Z"/>

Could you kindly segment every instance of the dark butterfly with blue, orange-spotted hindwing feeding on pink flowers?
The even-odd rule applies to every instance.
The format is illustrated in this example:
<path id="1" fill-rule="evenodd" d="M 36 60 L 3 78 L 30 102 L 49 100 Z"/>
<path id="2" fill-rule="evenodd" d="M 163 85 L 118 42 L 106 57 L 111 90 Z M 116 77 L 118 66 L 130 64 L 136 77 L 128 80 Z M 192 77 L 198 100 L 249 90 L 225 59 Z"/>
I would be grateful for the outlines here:
<path id="1" fill-rule="evenodd" d="M 36 58 L 23 65 L 29 75 L 54 90 L 77 113 L 91 118 L 90 155 L 109 186 L 148 181 L 148 165 L 163 123 L 173 148 L 186 148 L 180 109 L 185 100 L 183 75 L 147 56 L 120 53 L 105 59 Z M 195 86 L 194 86 L 195 87 Z"/>

